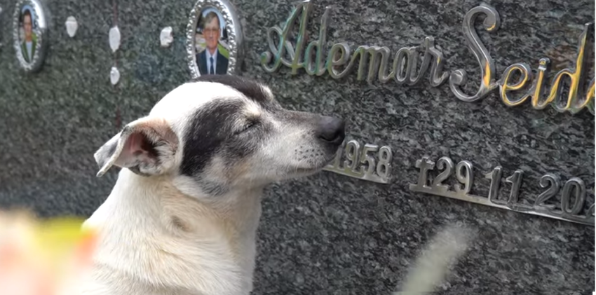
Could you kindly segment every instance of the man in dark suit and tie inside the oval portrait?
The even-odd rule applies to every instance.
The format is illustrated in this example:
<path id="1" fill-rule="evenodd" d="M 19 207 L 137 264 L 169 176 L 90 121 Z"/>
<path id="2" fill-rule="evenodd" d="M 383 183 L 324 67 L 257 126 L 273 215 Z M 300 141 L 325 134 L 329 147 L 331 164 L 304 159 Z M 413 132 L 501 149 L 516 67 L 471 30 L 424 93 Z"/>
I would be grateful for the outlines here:
<path id="1" fill-rule="evenodd" d="M 210 11 L 201 19 L 205 49 L 196 54 L 198 71 L 203 74 L 226 74 L 228 71 L 228 57 L 222 54 L 219 45 L 219 37 L 222 35 L 222 27 L 219 23 L 219 16 Z"/>

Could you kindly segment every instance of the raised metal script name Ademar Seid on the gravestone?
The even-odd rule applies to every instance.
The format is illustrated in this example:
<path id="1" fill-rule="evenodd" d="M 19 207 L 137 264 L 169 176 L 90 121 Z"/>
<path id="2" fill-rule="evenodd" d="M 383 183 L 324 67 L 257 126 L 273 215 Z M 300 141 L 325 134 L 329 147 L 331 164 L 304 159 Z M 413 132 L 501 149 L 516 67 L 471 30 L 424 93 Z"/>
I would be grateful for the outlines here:
<path id="1" fill-rule="evenodd" d="M 298 74 L 299 69 L 304 69 L 306 74 L 311 76 L 322 76 L 327 73 L 332 78 L 342 78 L 357 69 L 358 80 L 366 78 L 368 82 L 372 82 L 376 78 L 381 83 L 386 83 L 393 79 L 398 85 L 415 85 L 428 72 L 432 87 L 438 87 L 448 79 L 450 90 L 463 102 L 475 102 L 499 90 L 501 100 L 509 107 L 518 106 L 529 100 L 534 109 L 544 109 L 550 105 L 557 111 L 576 114 L 587 108 L 591 114 L 594 114 L 595 80 L 592 78 L 587 89 L 585 87 L 588 66 L 585 55 L 590 43 L 588 32 L 594 31 L 594 22 L 584 26 L 578 42 L 574 68 L 558 71 L 550 79 L 550 87 L 547 88 L 550 60 L 546 57 L 539 60 L 538 75 L 535 79 L 529 65 L 520 62 L 507 67 L 501 78 L 496 80 L 494 60 L 475 31 L 474 23 L 480 15 L 485 15 L 483 22 L 485 29 L 488 32 L 496 32 L 501 25 L 499 13 L 487 4 L 470 9 L 463 18 L 463 34 L 468 48 L 478 61 L 482 77 L 478 91 L 468 95 L 461 90 L 461 86 L 468 80 L 466 71 L 463 69 L 456 69 L 451 73 L 443 71 L 445 59 L 442 52 L 435 48 L 434 39 L 431 36 L 427 36 L 419 46 L 400 48 L 393 54 L 391 67 L 389 60 L 392 54 L 387 47 L 358 46 L 351 53 L 347 43 L 335 43 L 325 53 L 327 20 L 331 9 L 327 7 L 320 20 L 319 39 L 306 44 L 306 24 L 309 22 L 311 6 L 309 0 L 303 1 L 292 10 L 283 28 L 275 26 L 267 29 L 269 50 L 261 55 L 261 64 L 266 71 L 273 73 L 283 65 L 292 69 L 292 75 Z M 292 29 L 298 18 L 298 34 L 293 38 Z M 278 39 L 277 43 L 274 37 Z M 292 39 L 296 40 L 295 45 L 292 44 Z M 420 57 L 422 62 L 417 64 Z M 520 77 L 514 78 L 515 74 L 519 74 Z M 565 77 L 570 81 L 567 97 L 562 96 L 562 82 Z"/>

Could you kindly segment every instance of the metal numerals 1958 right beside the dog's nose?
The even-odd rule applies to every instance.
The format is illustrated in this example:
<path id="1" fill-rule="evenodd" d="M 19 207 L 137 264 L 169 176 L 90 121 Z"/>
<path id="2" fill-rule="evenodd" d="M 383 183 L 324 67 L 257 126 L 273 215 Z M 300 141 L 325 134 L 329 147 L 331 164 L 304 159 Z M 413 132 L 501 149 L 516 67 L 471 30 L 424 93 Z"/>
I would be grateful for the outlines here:
<path id="1" fill-rule="evenodd" d="M 393 151 L 389 146 L 361 145 L 358 141 L 351 140 L 323 170 L 387 184 L 391 176 L 391 160 Z"/>

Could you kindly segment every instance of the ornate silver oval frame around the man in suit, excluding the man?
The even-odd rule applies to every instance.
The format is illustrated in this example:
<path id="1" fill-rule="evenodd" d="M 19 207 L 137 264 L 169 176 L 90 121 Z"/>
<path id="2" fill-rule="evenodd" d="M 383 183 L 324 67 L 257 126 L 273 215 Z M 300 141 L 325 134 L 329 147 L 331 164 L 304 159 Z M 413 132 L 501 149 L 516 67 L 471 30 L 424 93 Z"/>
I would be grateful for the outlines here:
<path id="1" fill-rule="evenodd" d="M 204 36 L 202 29 L 197 27 L 197 25 L 202 25 L 198 21 L 200 18 L 203 18 L 203 13 L 207 16 L 206 13 L 210 11 L 215 12 L 218 16 L 217 20 L 219 20 L 220 28 L 225 25 L 225 29 L 220 32 L 217 43 L 217 59 L 215 60 L 216 67 L 214 74 L 235 74 L 243 55 L 241 49 L 243 34 L 240 20 L 236 14 L 236 8 L 226 0 L 198 0 L 189 13 L 186 30 L 187 62 L 192 78 L 210 74 L 210 70 L 206 66 L 207 44 L 205 42 L 205 48 L 201 48 L 202 43 L 197 44 L 197 39 Z M 201 34 L 197 34 L 198 31 L 201 31 Z M 227 39 L 224 40 L 222 35 L 224 38 L 227 37 Z"/>

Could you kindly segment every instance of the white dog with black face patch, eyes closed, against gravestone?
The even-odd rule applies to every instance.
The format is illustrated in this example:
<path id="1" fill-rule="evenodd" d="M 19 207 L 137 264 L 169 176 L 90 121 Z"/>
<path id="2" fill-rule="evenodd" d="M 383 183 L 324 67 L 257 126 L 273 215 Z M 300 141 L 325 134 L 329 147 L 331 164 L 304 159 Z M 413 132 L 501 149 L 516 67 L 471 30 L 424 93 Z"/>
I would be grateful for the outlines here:
<path id="1" fill-rule="evenodd" d="M 249 294 L 264 186 L 322 170 L 345 125 L 248 78 L 178 86 L 94 155 L 97 177 L 121 170 L 83 224 L 100 240 L 81 294 Z"/>

